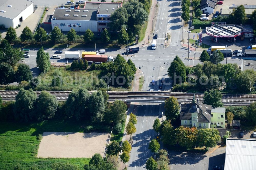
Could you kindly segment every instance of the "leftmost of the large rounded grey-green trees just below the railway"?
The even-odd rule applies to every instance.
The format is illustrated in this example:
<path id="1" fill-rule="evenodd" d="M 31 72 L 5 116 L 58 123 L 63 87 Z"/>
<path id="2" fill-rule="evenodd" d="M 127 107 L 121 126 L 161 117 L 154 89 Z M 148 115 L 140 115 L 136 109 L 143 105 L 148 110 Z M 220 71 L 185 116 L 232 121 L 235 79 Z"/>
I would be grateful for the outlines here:
<path id="1" fill-rule="evenodd" d="M 32 90 L 24 90 L 21 88 L 16 95 L 16 102 L 14 106 L 14 115 L 16 120 L 28 122 L 35 117 L 34 107 L 37 95 Z"/>

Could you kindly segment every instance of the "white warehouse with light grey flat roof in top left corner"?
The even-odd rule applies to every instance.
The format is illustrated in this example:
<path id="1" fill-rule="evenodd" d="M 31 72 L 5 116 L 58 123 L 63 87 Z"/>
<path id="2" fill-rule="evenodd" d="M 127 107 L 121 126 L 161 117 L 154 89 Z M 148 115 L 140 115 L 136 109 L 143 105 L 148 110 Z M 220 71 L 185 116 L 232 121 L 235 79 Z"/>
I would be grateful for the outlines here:
<path id="1" fill-rule="evenodd" d="M 17 27 L 34 12 L 33 1 L 29 0 L 1 0 L 0 24 L 5 28 Z"/>

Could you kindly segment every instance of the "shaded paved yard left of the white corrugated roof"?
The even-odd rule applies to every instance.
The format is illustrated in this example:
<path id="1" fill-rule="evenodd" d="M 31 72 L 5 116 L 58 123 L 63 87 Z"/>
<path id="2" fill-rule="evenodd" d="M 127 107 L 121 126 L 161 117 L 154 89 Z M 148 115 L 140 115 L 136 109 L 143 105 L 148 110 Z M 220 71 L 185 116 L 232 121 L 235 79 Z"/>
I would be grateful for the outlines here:
<path id="1" fill-rule="evenodd" d="M 194 152 L 170 151 L 170 169 L 211 170 L 213 166 L 223 167 L 226 147 L 210 148 L 205 154 Z"/>

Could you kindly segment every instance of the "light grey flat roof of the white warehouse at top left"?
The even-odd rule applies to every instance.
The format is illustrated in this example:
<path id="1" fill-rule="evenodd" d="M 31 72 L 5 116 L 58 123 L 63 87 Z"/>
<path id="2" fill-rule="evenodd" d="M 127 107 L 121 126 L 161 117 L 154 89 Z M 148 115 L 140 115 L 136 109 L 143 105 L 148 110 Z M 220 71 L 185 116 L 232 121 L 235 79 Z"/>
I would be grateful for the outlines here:
<path id="1" fill-rule="evenodd" d="M 0 16 L 14 19 L 31 4 L 33 4 L 33 1 L 29 0 L 1 0 L 0 10 L 4 10 L 5 13 L 0 12 Z M 12 7 L 7 5 L 12 5 Z"/>

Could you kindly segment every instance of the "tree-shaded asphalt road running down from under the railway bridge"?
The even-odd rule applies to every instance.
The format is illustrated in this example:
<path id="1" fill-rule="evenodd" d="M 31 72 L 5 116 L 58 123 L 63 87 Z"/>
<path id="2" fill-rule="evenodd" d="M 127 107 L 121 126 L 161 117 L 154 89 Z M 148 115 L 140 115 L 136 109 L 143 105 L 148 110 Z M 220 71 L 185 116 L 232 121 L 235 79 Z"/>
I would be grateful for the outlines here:
<path id="1" fill-rule="evenodd" d="M 140 107 L 137 107 L 142 105 Z M 137 107 L 137 108 L 136 108 Z M 135 109 L 135 110 L 134 110 Z M 133 134 L 132 151 L 130 154 L 128 169 L 145 169 L 145 163 L 150 156 L 153 156 L 148 149 L 149 142 L 156 137 L 152 126 L 158 115 L 164 111 L 164 104 L 159 103 L 135 103 L 131 105 L 130 112 L 137 116 L 136 132 Z"/>

